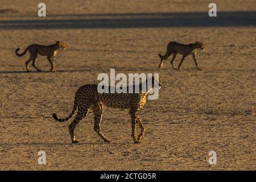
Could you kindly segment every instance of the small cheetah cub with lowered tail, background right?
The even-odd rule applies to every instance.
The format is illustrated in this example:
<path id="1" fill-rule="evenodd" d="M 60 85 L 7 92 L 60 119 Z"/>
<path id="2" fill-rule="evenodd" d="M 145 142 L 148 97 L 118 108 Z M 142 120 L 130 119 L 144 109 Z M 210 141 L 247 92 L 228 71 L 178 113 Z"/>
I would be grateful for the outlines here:
<path id="1" fill-rule="evenodd" d="M 166 54 L 164 56 L 162 56 L 159 53 L 159 57 L 161 59 L 160 63 L 159 63 L 159 68 L 163 68 L 164 60 L 168 59 L 168 57 L 172 55 L 172 60 L 171 60 L 172 68 L 181 69 L 180 67 L 181 67 L 181 64 L 183 63 L 185 57 L 192 54 L 193 60 L 196 64 L 196 68 L 198 70 L 202 70 L 201 68 L 199 68 L 199 66 L 197 64 L 197 61 L 196 61 L 197 48 L 201 48 L 201 49 L 203 49 L 203 51 L 205 49 L 203 43 L 201 43 L 199 41 L 196 41 L 196 43 L 193 43 L 193 44 L 180 44 L 180 43 L 177 43 L 177 42 L 170 42 L 167 46 Z M 177 53 L 180 53 L 181 55 L 183 55 L 183 57 L 180 61 L 179 66 L 176 68 L 174 66 L 174 60 L 177 56 Z"/>

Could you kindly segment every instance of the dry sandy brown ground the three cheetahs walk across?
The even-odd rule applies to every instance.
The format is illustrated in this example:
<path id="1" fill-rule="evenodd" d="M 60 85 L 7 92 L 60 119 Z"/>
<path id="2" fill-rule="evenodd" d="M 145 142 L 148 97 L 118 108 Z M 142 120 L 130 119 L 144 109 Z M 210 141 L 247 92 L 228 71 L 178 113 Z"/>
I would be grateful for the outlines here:
<path id="1" fill-rule="evenodd" d="M 254 0 L 216 1 L 1 1 L 1 170 L 255 170 L 256 7 Z M 67 43 L 56 57 L 56 73 L 45 57 L 43 72 L 27 73 L 29 44 Z M 158 53 L 170 41 L 200 40 L 197 71 L 192 56 L 174 71 L 170 59 L 158 69 Z M 177 56 L 178 64 L 181 56 Z M 67 117 L 76 90 L 97 83 L 100 73 L 159 73 L 158 100 L 139 113 L 146 127 L 141 144 L 131 138 L 128 110 L 104 107 L 103 142 L 93 131 L 93 113 L 79 123 L 71 144 Z M 46 152 L 46 165 L 38 152 Z M 208 153 L 216 151 L 217 164 Z"/>

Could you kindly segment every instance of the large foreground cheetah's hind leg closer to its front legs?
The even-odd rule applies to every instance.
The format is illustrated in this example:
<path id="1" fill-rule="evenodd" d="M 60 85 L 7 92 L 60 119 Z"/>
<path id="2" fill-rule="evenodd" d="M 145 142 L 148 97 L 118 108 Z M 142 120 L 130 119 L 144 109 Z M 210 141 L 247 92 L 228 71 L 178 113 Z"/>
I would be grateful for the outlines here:
<path id="1" fill-rule="evenodd" d="M 110 143 L 111 140 L 106 138 L 104 134 L 101 132 L 101 119 L 103 113 L 103 105 L 101 102 L 94 102 L 90 109 L 93 110 L 94 113 L 94 131 L 104 140 L 104 142 Z"/>

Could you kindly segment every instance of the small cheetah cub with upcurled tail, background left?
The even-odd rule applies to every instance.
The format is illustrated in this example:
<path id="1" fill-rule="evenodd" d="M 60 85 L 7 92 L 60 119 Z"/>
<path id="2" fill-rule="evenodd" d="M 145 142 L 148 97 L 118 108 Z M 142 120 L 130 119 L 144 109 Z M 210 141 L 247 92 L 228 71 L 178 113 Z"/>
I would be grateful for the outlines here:
<path id="1" fill-rule="evenodd" d="M 64 50 L 67 48 L 66 44 L 61 41 L 56 41 L 55 44 L 49 45 L 49 46 L 42 46 L 39 44 L 31 44 L 28 46 L 23 53 L 18 53 L 20 48 L 16 49 L 15 53 L 16 56 L 21 57 L 26 55 L 27 51 L 30 52 L 30 58 L 26 61 L 26 69 L 27 72 L 30 72 L 29 69 L 29 63 L 32 61 L 32 66 L 38 71 L 42 72 L 41 69 L 36 67 L 36 58 L 38 57 L 38 54 L 41 56 L 47 56 L 47 60 L 51 64 L 51 72 L 55 72 L 55 56 L 57 55 L 57 50 L 63 48 Z"/>

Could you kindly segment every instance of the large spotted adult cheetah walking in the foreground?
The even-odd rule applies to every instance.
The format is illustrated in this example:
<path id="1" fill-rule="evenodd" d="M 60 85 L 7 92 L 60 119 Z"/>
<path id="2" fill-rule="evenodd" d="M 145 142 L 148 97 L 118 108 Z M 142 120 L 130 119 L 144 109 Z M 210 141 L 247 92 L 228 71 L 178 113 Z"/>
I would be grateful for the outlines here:
<path id="1" fill-rule="evenodd" d="M 69 125 L 69 133 L 71 134 L 72 143 L 78 143 L 79 140 L 76 139 L 74 130 L 76 125 L 86 117 L 89 109 L 91 109 L 94 113 L 94 131 L 102 138 L 105 142 L 110 143 L 111 141 L 107 139 L 101 132 L 101 118 L 103 113 L 103 105 L 110 107 L 118 107 L 124 109 L 130 109 L 129 114 L 131 115 L 131 128 L 132 128 L 132 137 L 134 143 L 140 143 L 140 140 L 145 132 L 144 126 L 142 125 L 141 120 L 139 119 L 138 112 L 142 109 L 144 104 L 146 103 L 146 96 L 151 89 L 155 88 L 155 78 L 148 78 L 146 81 L 148 83 L 152 83 L 151 88 L 148 88 L 146 93 L 99 93 L 97 88 L 98 85 L 84 85 L 81 86 L 76 92 L 75 103 L 73 106 L 72 113 L 65 119 L 59 119 L 57 115 L 54 113 L 53 118 L 56 121 L 64 122 L 68 121 L 68 119 L 72 118 L 75 114 L 76 109 L 78 108 L 77 114 L 73 122 Z M 159 80 L 157 79 L 156 83 L 159 85 L 156 88 L 161 87 Z M 135 88 L 135 85 L 133 85 Z M 140 90 L 142 90 L 142 84 L 139 85 Z M 109 88 L 110 90 L 110 88 Z M 128 90 L 128 88 L 127 88 Z M 139 134 L 137 138 L 136 134 L 136 123 L 141 128 L 141 134 Z"/>

